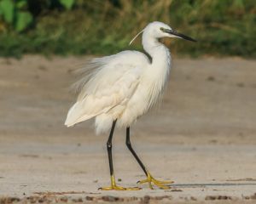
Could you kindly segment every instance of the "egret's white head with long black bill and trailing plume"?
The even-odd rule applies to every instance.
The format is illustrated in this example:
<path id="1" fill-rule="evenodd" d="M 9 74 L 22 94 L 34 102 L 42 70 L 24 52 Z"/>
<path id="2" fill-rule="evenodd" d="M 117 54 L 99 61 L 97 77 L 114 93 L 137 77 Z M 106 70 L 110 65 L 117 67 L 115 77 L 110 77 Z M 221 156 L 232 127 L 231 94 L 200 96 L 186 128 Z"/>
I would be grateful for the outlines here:
<path id="1" fill-rule="evenodd" d="M 179 33 L 175 30 L 173 30 L 170 26 L 159 22 L 159 21 L 154 21 L 152 23 L 149 23 L 148 26 L 146 26 L 143 31 L 140 31 L 136 37 L 138 37 L 139 34 L 143 32 L 143 35 L 147 35 L 148 37 L 153 37 L 153 38 L 162 38 L 162 37 L 178 37 L 182 38 L 184 40 L 196 42 L 195 39 L 192 37 L 188 37 L 183 35 L 182 33 Z M 131 42 L 135 40 L 134 37 Z M 130 44 L 131 44 L 130 42 Z"/>

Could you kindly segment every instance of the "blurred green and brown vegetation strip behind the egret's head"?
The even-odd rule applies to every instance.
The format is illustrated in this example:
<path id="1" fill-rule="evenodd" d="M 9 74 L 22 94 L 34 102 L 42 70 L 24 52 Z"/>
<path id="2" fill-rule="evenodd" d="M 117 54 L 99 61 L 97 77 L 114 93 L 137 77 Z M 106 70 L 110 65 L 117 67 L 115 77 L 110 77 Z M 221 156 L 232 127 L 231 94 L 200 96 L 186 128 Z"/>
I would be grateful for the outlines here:
<path id="1" fill-rule="evenodd" d="M 166 39 L 172 53 L 256 57 L 255 0 L 0 0 L 0 55 L 113 54 L 148 22 L 199 42 Z"/>

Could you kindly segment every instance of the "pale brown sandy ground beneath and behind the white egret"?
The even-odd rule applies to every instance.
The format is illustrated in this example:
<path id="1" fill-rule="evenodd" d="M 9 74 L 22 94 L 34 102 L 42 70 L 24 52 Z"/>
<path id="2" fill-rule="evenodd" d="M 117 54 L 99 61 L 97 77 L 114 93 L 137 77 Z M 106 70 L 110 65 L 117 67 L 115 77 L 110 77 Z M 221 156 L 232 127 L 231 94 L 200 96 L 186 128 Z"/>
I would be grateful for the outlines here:
<path id="1" fill-rule="evenodd" d="M 131 140 L 170 190 L 101 191 L 109 184 L 106 140 L 93 121 L 64 127 L 73 70 L 84 58 L 0 59 L 0 203 L 256 203 L 256 61 L 174 59 L 160 109 L 131 127 Z M 113 139 L 116 178 L 143 171 Z"/>

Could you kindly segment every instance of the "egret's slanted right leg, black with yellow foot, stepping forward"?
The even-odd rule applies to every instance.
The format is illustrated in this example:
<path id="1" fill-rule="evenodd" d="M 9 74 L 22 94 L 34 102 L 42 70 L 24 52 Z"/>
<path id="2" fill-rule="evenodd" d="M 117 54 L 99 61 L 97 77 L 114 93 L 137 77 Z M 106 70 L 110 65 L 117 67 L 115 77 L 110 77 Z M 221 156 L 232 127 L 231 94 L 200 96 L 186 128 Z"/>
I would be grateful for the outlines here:
<path id="1" fill-rule="evenodd" d="M 136 152 L 132 149 L 131 141 L 130 141 L 130 127 L 126 128 L 126 145 L 128 149 L 131 151 L 131 154 L 136 158 L 137 162 L 139 163 L 140 167 L 143 168 L 143 172 L 146 174 L 147 178 L 141 181 L 138 181 L 137 184 L 144 184 L 148 183 L 149 188 L 153 189 L 152 183 L 157 185 L 160 189 L 170 189 L 170 187 L 166 184 L 172 184 L 173 181 L 159 181 L 155 179 L 143 165 L 143 162 L 139 159 Z"/>

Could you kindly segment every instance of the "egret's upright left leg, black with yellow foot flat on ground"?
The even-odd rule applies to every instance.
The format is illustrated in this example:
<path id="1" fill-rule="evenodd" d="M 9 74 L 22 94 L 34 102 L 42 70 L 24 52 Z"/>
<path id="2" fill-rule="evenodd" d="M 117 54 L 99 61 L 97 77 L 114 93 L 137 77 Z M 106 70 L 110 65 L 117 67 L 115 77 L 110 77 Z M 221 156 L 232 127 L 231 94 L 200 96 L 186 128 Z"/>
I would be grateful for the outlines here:
<path id="1" fill-rule="evenodd" d="M 116 121 L 117 120 L 113 121 L 111 131 L 110 131 L 110 134 L 109 134 L 109 137 L 108 137 L 108 142 L 107 142 L 111 185 L 109 187 L 99 188 L 99 190 L 140 190 L 140 188 L 137 188 L 137 187 L 135 187 L 135 188 L 124 188 L 124 187 L 118 186 L 115 183 L 115 178 L 114 178 L 114 174 L 113 174 L 112 138 L 113 138 L 113 130 L 114 130 Z"/>

